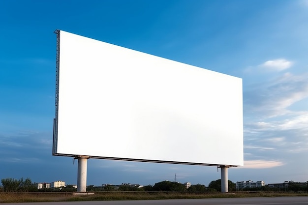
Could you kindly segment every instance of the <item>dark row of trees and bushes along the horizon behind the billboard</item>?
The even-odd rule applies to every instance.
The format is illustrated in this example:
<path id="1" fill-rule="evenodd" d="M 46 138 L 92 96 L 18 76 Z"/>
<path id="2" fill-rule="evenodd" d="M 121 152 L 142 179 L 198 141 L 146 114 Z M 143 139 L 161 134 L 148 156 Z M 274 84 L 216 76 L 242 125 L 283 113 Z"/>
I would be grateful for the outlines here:
<path id="1" fill-rule="evenodd" d="M 59 188 L 42 188 L 38 189 L 37 184 L 32 183 L 30 178 L 26 179 L 14 179 L 14 178 L 3 178 L 1 179 L 2 186 L 0 186 L 0 192 L 74 192 L 77 191 L 73 185 L 66 185 L 65 187 Z M 236 184 L 228 180 L 229 192 L 236 190 Z M 154 185 L 146 185 L 139 188 L 138 186 L 131 186 L 128 184 L 122 184 L 120 186 L 105 185 L 105 186 L 87 186 L 88 192 L 98 191 L 146 191 L 146 192 L 194 192 L 194 193 L 205 193 L 205 192 L 221 192 L 221 180 L 211 181 L 208 186 L 203 184 L 193 184 L 188 189 L 185 184 L 175 181 L 160 181 Z M 299 185 L 297 183 L 290 183 L 288 187 L 276 188 L 269 186 L 245 188 L 238 191 L 308 191 L 308 183 L 306 186 Z"/>

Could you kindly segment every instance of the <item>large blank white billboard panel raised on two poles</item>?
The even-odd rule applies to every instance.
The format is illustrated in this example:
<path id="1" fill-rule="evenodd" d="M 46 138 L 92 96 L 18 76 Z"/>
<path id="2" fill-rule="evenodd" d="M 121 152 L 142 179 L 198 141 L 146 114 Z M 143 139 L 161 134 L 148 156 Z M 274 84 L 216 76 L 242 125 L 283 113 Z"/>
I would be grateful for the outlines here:
<path id="1" fill-rule="evenodd" d="M 57 37 L 54 155 L 243 165 L 242 79 Z"/>

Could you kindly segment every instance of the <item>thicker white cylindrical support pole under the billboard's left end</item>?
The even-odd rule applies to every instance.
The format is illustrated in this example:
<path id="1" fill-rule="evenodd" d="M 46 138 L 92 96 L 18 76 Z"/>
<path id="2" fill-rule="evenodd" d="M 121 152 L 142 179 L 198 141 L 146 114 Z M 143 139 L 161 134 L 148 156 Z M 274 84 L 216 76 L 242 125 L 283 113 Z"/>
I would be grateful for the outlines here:
<path id="1" fill-rule="evenodd" d="M 77 192 L 87 192 L 87 162 L 89 156 L 78 156 Z"/>

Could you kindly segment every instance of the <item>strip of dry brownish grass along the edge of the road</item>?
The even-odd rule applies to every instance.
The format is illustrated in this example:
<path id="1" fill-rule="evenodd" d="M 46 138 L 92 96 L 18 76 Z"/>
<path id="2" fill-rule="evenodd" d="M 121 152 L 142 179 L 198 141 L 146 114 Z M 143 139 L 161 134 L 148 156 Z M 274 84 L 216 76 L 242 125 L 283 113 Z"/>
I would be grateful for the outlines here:
<path id="1" fill-rule="evenodd" d="M 243 197 L 308 196 L 307 192 L 95 192 L 94 195 L 73 195 L 73 192 L 0 192 L 0 203 L 65 202 L 65 201 L 116 201 L 116 200 L 162 200 L 206 199 Z"/>

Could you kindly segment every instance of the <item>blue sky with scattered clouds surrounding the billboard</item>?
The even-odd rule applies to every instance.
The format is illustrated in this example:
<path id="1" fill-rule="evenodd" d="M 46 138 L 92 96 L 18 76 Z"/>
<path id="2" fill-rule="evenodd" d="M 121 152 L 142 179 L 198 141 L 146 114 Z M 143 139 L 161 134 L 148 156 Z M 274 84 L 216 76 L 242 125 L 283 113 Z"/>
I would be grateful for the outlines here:
<path id="1" fill-rule="evenodd" d="M 52 156 L 61 29 L 242 78 L 245 166 L 229 179 L 308 180 L 307 0 L 1 0 L 0 23 L 0 178 L 77 183 L 77 161 Z M 220 178 L 216 167 L 90 159 L 87 184 L 175 174 Z"/>

